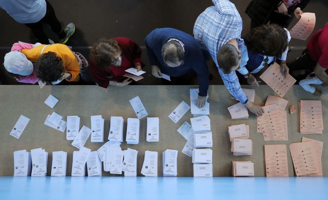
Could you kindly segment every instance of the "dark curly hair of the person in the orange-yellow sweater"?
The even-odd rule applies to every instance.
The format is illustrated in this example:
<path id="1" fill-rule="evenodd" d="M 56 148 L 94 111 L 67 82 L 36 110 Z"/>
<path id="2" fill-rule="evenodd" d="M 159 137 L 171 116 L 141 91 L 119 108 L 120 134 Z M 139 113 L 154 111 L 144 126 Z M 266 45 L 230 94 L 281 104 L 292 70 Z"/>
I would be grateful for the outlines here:
<path id="1" fill-rule="evenodd" d="M 36 62 L 36 76 L 43 82 L 54 82 L 65 74 L 63 61 L 54 52 L 41 55 Z"/>

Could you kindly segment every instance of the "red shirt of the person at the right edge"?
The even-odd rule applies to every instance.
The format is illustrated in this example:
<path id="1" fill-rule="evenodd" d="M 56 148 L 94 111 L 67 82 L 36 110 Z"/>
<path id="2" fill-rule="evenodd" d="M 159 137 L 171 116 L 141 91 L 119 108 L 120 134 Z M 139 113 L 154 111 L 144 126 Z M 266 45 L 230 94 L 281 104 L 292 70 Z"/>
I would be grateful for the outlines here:
<path id="1" fill-rule="evenodd" d="M 328 69 L 328 23 L 311 37 L 306 48 L 313 61 Z"/>

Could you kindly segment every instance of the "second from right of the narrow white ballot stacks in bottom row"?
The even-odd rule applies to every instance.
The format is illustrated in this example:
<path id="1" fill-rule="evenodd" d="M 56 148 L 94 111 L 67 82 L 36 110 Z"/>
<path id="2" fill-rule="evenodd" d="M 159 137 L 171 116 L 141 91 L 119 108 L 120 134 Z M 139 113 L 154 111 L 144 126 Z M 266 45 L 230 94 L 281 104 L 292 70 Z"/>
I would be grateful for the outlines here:
<path id="1" fill-rule="evenodd" d="M 142 175 L 157 176 L 157 157 L 157 152 L 145 151 L 145 159 L 141 169 Z"/>

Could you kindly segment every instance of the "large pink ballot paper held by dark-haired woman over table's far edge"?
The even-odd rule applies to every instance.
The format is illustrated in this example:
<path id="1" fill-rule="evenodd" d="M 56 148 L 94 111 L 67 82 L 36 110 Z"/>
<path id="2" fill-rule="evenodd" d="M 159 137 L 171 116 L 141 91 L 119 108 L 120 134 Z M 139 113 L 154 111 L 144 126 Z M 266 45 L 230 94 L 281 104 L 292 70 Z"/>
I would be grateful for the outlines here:
<path id="1" fill-rule="evenodd" d="M 277 92 L 280 97 L 283 97 L 296 82 L 290 74 L 287 75 L 287 78 L 284 78 L 280 72 L 280 66 L 277 63 L 268 67 L 260 78 Z"/>

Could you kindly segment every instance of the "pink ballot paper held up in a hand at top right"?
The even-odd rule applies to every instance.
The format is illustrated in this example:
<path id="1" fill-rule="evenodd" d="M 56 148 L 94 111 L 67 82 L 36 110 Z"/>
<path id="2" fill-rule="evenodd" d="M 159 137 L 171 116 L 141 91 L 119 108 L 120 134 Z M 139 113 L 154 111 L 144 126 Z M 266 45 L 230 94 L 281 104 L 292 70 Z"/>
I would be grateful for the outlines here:
<path id="1" fill-rule="evenodd" d="M 314 26 L 316 25 L 316 14 L 304 12 L 300 15 L 301 19 L 290 30 L 290 36 L 292 38 L 306 40 L 311 35 Z"/>

